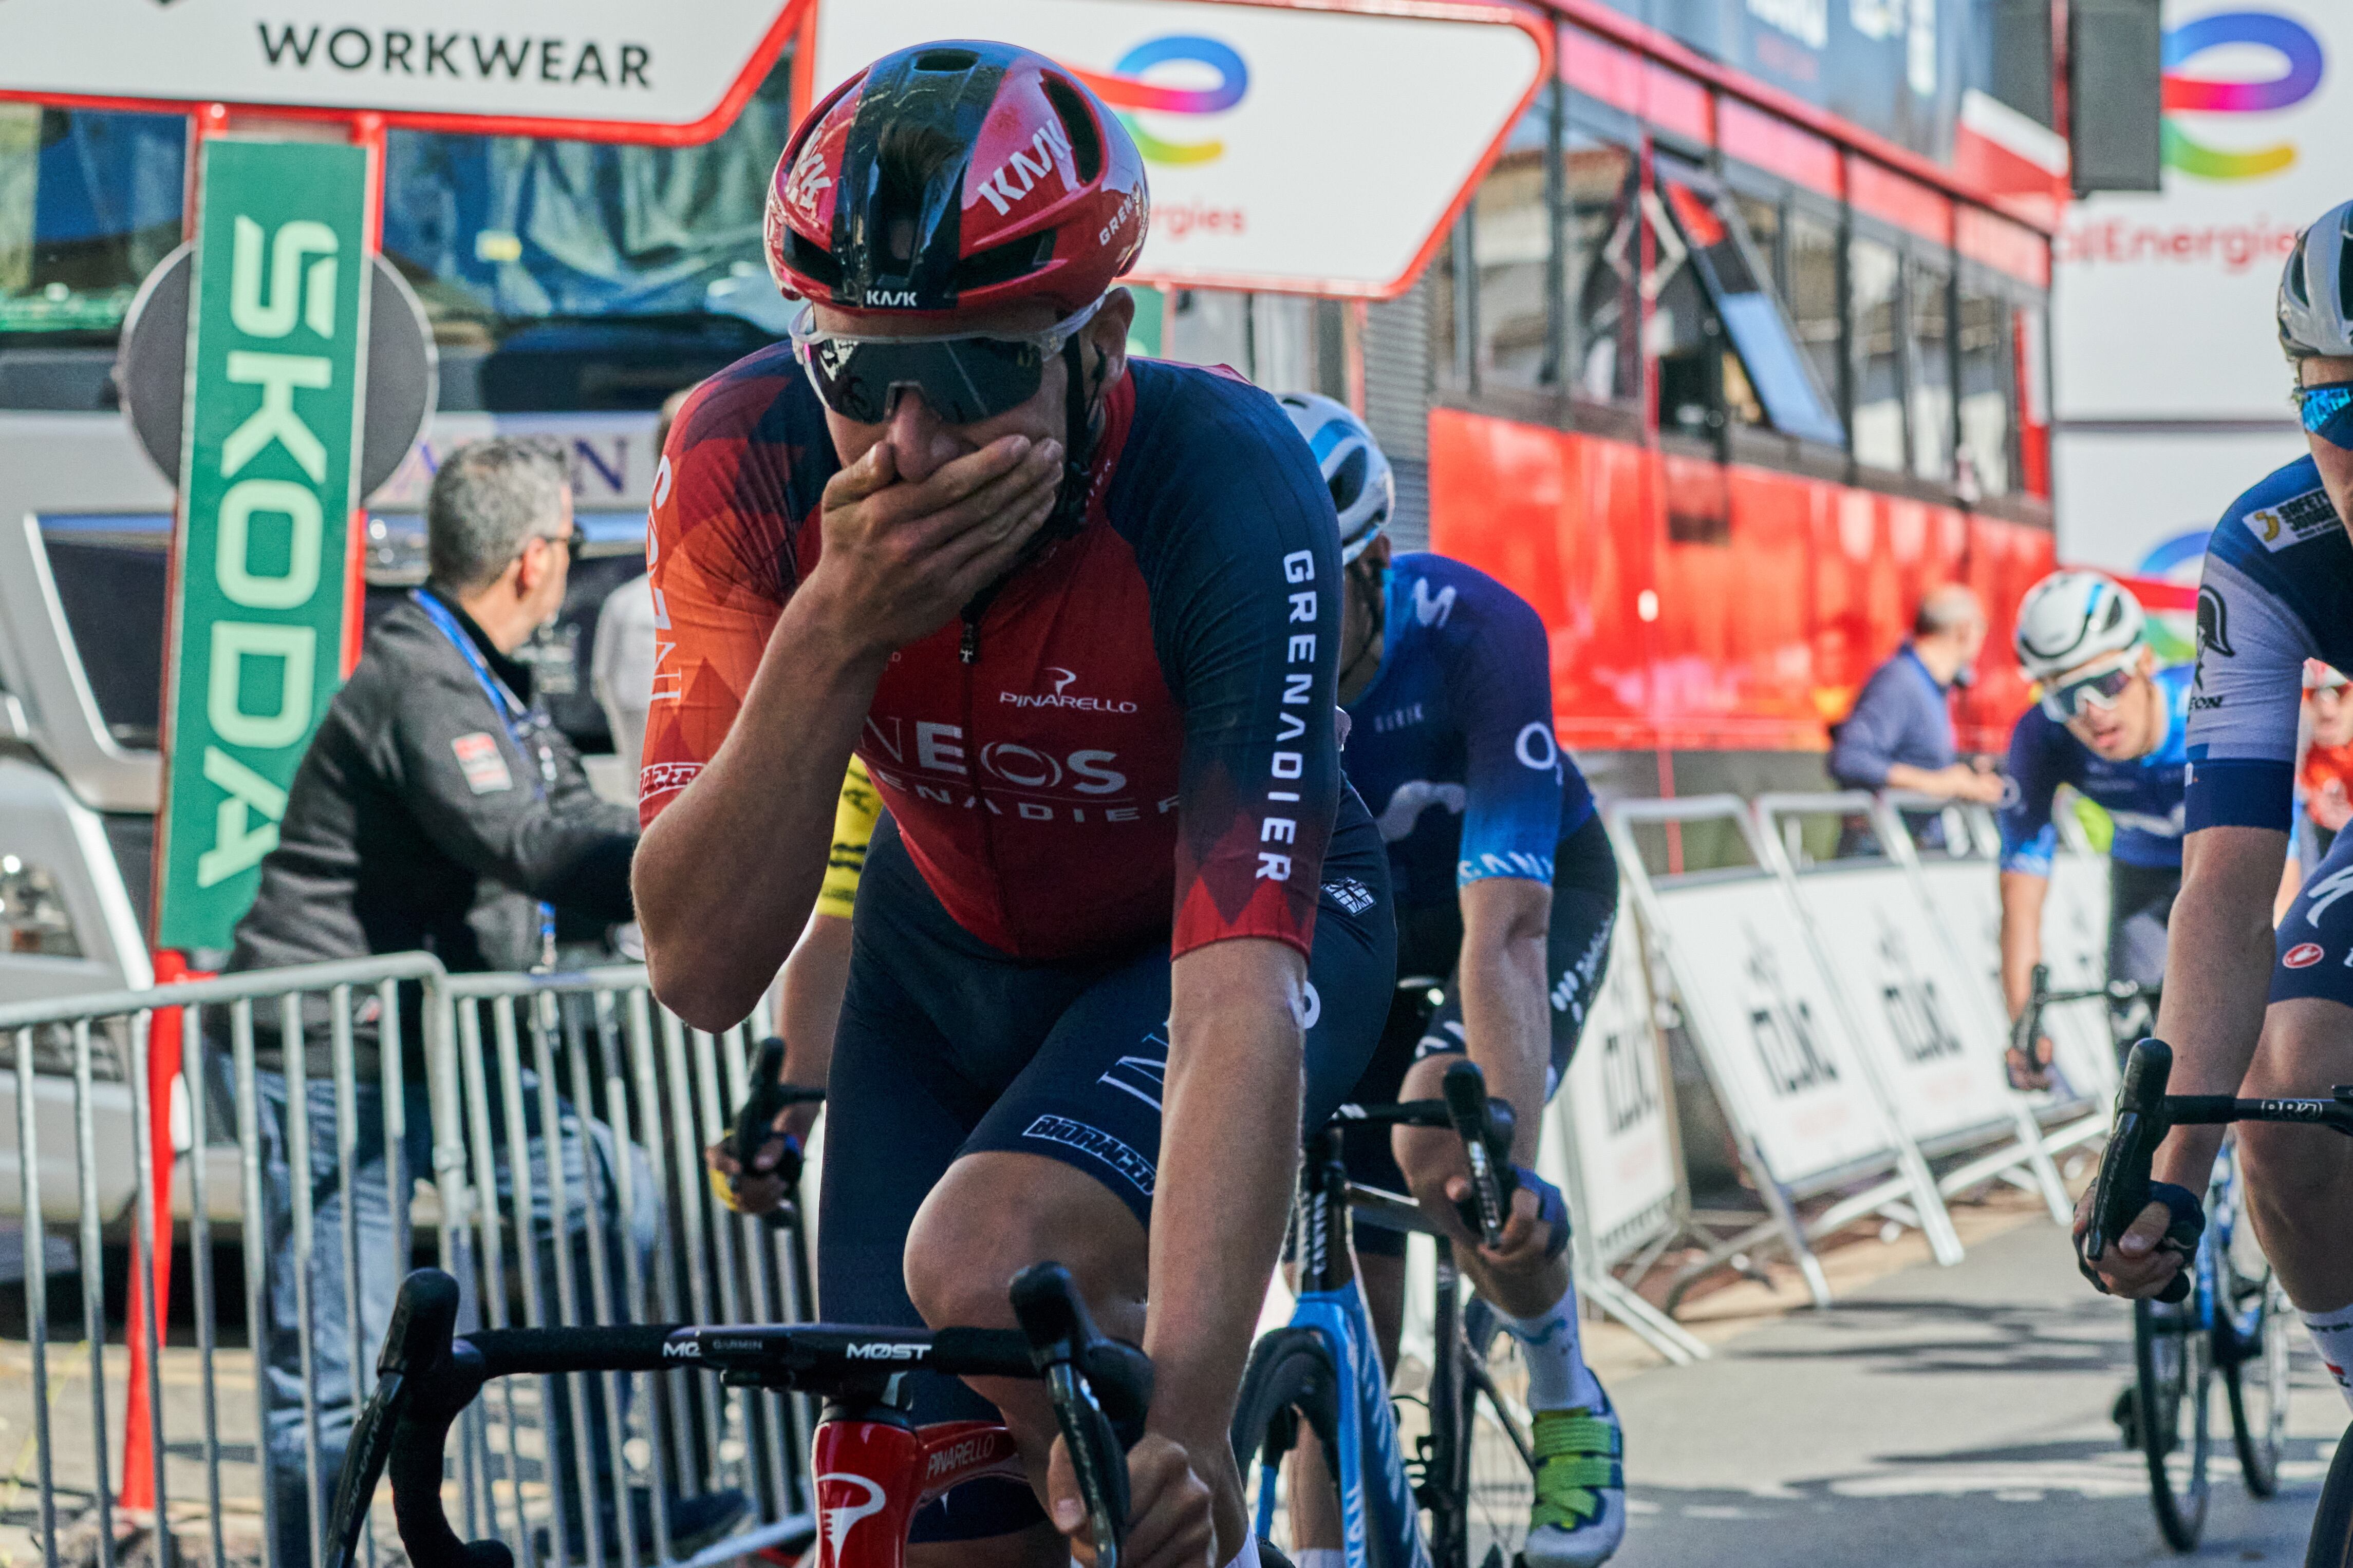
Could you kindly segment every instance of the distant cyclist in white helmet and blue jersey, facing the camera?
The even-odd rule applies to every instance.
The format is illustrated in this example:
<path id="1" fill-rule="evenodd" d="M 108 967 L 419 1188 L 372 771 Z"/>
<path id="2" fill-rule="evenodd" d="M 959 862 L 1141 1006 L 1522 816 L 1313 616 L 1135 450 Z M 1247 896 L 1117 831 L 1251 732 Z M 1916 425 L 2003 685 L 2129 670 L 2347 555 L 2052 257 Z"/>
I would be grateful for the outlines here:
<path id="1" fill-rule="evenodd" d="M 2017 651 L 2040 701 L 2009 731 L 2002 799 L 2002 994 L 2026 1011 L 2042 961 L 2042 896 L 2059 830 L 2052 799 L 2073 785 L 2115 820 L 2108 846 L 2108 978 L 2165 978 L 2165 926 L 2181 889 L 2181 788 L 2188 773 L 2191 665 L 2158 668 L 2141 602 L 2097 571 L 2054 571 L 2019 602 Z M 2118 1004 L 2118 1018 L 2134 1004 Z M 2012 1051 L 2021 1088 L 2047 1081 Z"/>

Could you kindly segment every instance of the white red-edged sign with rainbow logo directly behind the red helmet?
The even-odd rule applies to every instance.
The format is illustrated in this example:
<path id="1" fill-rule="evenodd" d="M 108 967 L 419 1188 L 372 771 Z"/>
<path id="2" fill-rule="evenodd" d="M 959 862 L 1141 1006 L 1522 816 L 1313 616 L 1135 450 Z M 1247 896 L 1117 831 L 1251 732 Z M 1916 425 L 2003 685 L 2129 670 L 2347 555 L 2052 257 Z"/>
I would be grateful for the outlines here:
<path id="1" fill-rule="evenodd" d="M 1541 24 L 1466 9 L 824 0 L 816 94 L 934 38 L 984 31 L 1038 49 L 1080 73 L 1144 150 L 1141 280 L 1388 299 L 1412 284 L 1544 73 L 1525 31 Z"/>

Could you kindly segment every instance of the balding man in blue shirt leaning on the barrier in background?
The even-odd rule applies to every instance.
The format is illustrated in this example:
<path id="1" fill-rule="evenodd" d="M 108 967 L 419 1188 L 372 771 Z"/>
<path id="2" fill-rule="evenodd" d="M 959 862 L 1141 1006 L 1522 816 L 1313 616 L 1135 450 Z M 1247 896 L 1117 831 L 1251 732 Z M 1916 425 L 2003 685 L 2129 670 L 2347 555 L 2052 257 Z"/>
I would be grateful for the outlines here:
<path id="1" fill-rule="evenodd" d="M 1986 609 L 1960 583 L 1929 590 L 1911 639 L 1871 672 L 1854 710 L 1831 731 L 1831 778 L 1842 790 L 1911 790 L 2000 804 L 1995 773 L 1958 762 L 1953 686 L 1977 679 Z"/>

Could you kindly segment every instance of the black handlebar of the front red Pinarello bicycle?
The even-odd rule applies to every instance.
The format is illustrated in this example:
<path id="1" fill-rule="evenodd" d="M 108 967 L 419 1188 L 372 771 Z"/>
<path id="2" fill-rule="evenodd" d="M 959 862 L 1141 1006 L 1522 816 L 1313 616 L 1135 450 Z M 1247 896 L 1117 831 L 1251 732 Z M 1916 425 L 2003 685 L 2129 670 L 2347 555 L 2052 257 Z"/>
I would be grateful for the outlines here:
<path id="1" fill-rule="evenodd" d="M 504 1542 L 461 1542 L 442 1512 L 449 1427 L 492 1378 L 515 1373 L 649 1373 L 692 1366 L 732 1387 L 800 1389 L 875 1403 L 889 1378 L 1042 1378 L 1087 1500 L 1104 1568 L 1127 1530 L 1127 1465 L 1144 1434 L 1153 1368 L 1141 1349 L 1096 1333 L 1068 1269 L 1038 1262 L 1012 1281 L 1021 1328 L 856 1328 L 840 1324 L 616 1324 L 492 1328 L 456 1335 L 459 1288 L 440 1269 L 400 1284 L 376 1387 L 334 1486 L 329 1568 L 353 1568 L 360 1530 L 391 1476 L 393 1519 L 414 1568 L 513 1568 Z"/>

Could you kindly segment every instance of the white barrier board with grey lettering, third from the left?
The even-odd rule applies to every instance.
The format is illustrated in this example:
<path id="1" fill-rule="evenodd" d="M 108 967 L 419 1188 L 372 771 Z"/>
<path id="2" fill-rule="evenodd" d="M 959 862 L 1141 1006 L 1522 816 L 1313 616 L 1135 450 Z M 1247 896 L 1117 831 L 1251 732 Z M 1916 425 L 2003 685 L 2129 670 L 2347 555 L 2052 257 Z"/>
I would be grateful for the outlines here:
<path id="1" fill-rule="evenodd" d="M 1991 875 L 1986 877 L 1991 882 Z M 2014 1131 L 2002 1039 L 1955 969 L 1951 947 L 1901 865 L 1798 875 L 1798 898 L 1847 997 L 1864 1048 L 1880 1053 L 1897 1119 L 1913 1143 Z"/>

